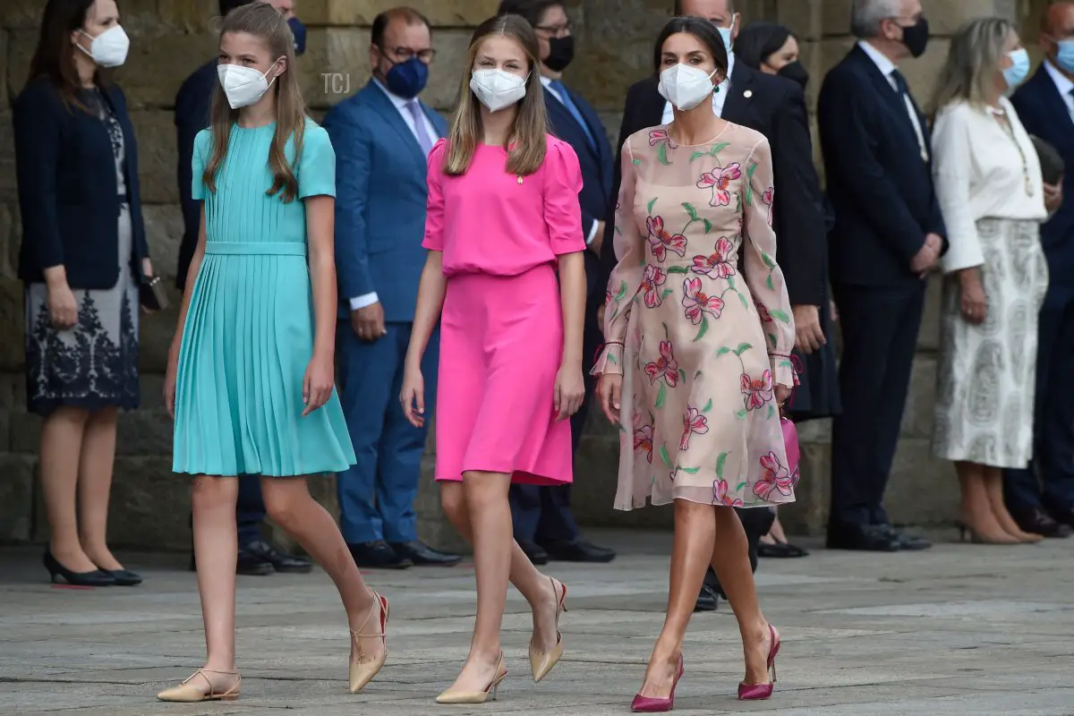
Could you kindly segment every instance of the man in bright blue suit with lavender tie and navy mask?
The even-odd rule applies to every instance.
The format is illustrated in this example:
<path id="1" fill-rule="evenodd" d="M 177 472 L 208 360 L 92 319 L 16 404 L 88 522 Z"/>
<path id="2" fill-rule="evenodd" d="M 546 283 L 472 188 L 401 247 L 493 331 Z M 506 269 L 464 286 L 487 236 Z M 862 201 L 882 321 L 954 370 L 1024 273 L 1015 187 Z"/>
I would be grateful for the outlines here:
<path id="1" fill-rule="evenodd" d="M 418 540 L 425 428 L 398 394 L 425 263 L 427 156 L 447 133 L 418 100 L 435 54 L 421 13 L 395 8 L 373 21 L 373 78 L 333 107 L 324 128 L 336 152 L 336 347 L 343 407 L 358 463 L 338 474 L 340 528 L 359 567 L 454 565 L 458 555 Z M 435 410 L 438 335 L 425 350 L 425 407 Z"/>

